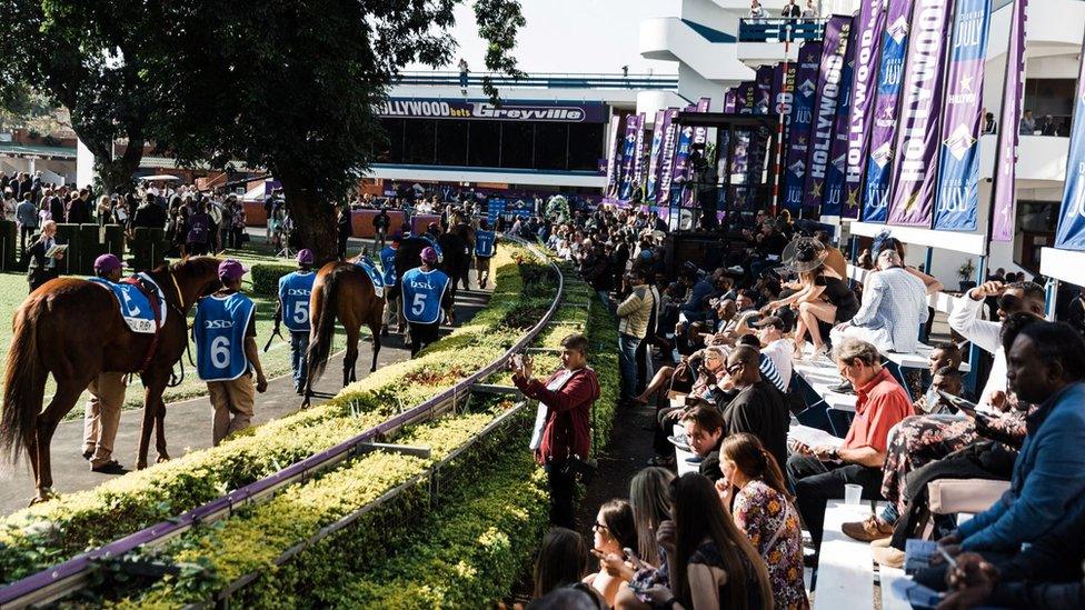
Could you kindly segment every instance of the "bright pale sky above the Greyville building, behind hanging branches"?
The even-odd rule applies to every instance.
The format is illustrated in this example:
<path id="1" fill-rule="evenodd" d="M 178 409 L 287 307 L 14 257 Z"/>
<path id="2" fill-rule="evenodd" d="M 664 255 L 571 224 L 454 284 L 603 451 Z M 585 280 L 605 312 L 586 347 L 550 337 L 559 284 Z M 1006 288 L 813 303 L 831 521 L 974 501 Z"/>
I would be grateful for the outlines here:
<path id="1" fill-rule="evenodd" d="M 677 0 L 520 0 L 527 26 L 520 30 L 514 54 L 528 73 L 630 73 L 675 74 L 677 64 L 651 61 L 637 52 L 640 20 L 678 14 Z M 472 72 L 484 69 L 486 46 L 478 37 L 472 2 L 456 8 L 452 37 L 459 52 L 445 70 L 455 69 L 459 57 Z M 430 70 L 409 66 L 407 70 Z"/>

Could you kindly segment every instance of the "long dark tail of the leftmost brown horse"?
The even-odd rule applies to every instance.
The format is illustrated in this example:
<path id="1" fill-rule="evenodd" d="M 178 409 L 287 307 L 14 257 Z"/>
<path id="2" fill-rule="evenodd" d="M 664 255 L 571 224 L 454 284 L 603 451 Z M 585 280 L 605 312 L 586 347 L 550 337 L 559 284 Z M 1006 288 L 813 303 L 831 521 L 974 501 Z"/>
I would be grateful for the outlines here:
<path id="1" fill-rule="evenodd" d="M 31 314 L 34 303 L 16 312 L 14 333 L 8 352 L 3 384 L 3 412 L 0 414 L 0 456 L 14 464 L 22 454 L 22 441 L 33 433 L 41 410 L 48 371 L 38 353 L 38 330 Z"/>

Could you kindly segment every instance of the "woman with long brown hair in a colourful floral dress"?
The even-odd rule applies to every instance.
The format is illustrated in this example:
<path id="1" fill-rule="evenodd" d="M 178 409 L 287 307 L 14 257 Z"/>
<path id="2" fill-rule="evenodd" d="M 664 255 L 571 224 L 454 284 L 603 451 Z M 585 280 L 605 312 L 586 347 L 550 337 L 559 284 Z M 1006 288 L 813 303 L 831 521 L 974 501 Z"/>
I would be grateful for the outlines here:
<path id="1" fill-rule="evenodd" d="M 731 434 L 719 448 L 724 478 L 716 481 L 724 509 L 768 566 L 777 610 L 810 607 L 803 582 L 803 530 L 779 464 L 762 441 Z"/>

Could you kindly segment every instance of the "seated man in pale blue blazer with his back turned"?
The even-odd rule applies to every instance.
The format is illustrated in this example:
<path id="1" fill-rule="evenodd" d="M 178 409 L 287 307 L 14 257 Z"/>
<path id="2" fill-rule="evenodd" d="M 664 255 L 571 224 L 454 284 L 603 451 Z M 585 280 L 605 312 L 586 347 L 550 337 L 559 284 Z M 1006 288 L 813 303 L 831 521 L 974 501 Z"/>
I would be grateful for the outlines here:
<path id="1" fill-rule="evenodd" d="M 878 254 L 878 271 L 867 277 L 863 304 L 852 321 L 833 329 L 833 343 L 857 338 L 883 351 L 912 353 L 919 343 L 919 324 L 927 316 L 923 282 L 905 270 L 895 250 Z"/>

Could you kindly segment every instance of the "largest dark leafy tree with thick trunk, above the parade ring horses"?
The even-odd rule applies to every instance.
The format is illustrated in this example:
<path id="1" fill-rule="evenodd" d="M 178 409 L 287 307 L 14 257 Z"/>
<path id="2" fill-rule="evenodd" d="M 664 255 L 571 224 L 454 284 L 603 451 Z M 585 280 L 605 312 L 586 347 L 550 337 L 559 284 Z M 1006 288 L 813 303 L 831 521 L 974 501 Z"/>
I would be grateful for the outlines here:
<path id="1" fill-rule="evenodd" d="M 335 208 L 384 137 L 374 111 L 401 67 L 444 66 L 466 0 L 173 0 L 142 40 L 158 143 L 182 162 L 231 160 L 282 183 L 302 243 L 335 256 Z M 517 0 L 475 0 L 486 66 L 517 74 Z M 145 17 L 143 19 L 147 19 Z M 496 94 L 492 84 L 487 91 Z"/>

